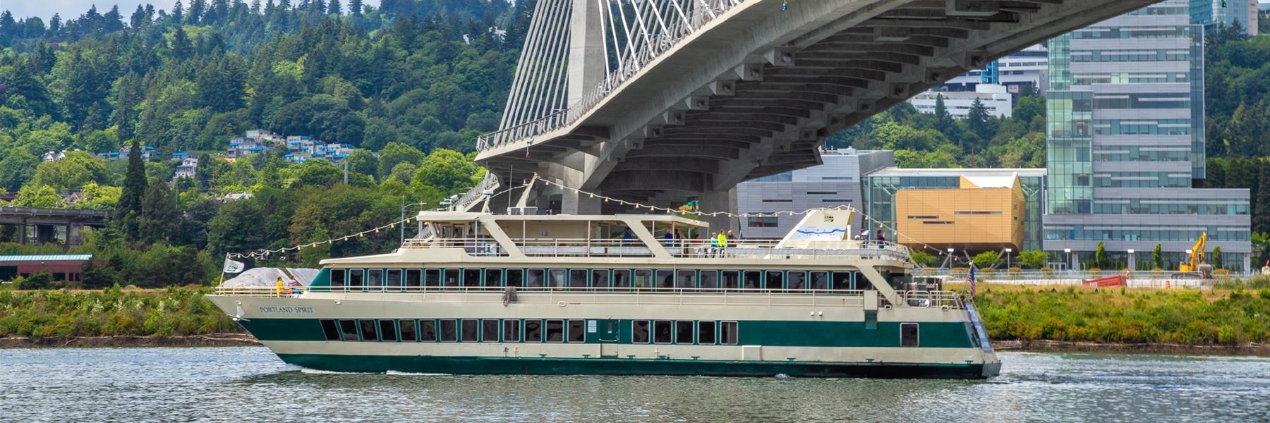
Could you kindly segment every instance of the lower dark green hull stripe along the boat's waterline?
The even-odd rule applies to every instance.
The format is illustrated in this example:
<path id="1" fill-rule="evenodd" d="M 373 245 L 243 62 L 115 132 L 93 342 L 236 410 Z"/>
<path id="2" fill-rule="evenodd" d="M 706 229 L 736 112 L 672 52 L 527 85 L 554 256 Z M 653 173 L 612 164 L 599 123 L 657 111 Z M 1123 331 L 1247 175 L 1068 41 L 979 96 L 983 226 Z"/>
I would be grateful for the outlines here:
<path id="1" fill-rule="evenodd" d="M 824 363 L 631 358 L 507 358 L 434 356 L 278 354 L 282 361 L 337 372 L 452 375 L 674 375 L 983 379 L 983 365 Z"/>

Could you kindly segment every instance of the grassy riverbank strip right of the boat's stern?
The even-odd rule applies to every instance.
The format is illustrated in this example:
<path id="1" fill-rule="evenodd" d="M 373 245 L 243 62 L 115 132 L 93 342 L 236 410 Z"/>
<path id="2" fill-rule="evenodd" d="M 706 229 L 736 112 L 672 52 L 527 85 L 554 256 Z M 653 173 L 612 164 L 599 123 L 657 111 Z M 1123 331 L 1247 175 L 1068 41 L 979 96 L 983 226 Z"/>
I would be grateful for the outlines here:
<path id="1" fill-rule="evenodd" d="M 980 285 L 994 340 L 1242 346 L 1270 342 L 1270 290 L 1091 290 Z"/>

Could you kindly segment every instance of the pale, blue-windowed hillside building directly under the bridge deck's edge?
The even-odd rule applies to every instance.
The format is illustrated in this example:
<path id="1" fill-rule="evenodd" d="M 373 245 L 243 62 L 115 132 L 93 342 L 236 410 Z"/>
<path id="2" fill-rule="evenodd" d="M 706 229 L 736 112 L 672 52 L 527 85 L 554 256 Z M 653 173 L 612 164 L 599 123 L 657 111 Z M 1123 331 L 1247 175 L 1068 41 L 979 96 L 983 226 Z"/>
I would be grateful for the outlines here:
<path id="1" fill-rule="evenodd" d="M 1045 93 L 1049 85 L 1049 52 L 1045 46 L 1031 46 L 940 86 L 949 91 L 974 91 L 979 84 L 1005 85 L 1013 94 L 1022 93 L 1024 86 L 1030 85 L 1034 91 Z"/>

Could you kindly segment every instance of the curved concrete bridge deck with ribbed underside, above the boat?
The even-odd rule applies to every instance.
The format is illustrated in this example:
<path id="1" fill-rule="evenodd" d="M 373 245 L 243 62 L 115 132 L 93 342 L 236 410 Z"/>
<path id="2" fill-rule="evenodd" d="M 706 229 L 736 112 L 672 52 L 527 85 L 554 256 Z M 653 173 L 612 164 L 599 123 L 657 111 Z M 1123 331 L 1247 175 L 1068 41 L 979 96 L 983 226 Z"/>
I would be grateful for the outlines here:
<path id="1" fill-rule="evenodd" d="M 826 137 L 927 88 L 1151 3 L 751 0 L 575 123 L 478 159 L 504 185 L 538 174 L 659 206 L 728 197 L 743 180 L 819 164 Z M 540 193 L 564 212 L 627 211 L 569 196 Z"/>

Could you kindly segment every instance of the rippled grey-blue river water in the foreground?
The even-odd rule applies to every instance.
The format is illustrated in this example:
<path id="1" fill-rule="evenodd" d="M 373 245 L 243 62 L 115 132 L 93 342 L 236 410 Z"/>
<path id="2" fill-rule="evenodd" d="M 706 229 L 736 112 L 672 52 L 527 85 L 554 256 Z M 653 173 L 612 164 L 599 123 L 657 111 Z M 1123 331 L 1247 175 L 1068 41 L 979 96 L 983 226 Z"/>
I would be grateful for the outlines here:
<path id="1" fill-rule="evenodd" d="M 324 373 L 265 348 L 0 349 L 3 422 L 1270 422 L 1270 358 L 1002 353 L 991 381 Z"/>

